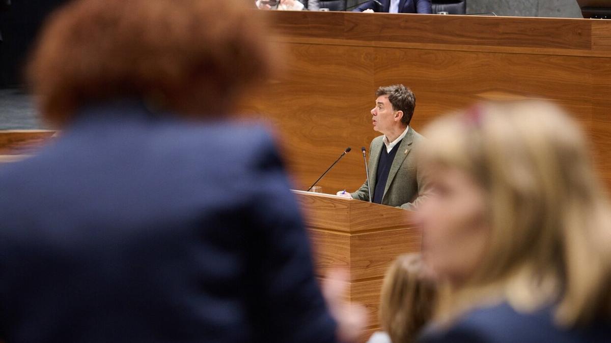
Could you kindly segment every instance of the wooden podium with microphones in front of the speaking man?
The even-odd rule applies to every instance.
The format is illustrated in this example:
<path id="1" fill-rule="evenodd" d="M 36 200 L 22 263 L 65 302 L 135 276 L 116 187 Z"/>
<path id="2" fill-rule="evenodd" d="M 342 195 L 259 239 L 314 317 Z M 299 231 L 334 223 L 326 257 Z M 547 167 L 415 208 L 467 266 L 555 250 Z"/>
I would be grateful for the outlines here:
<path id="1" fill-rule="evenodd" d="M 413 212 L 335 195 L 294 190 L 310 233 L 316 275 L 349 272 L 349 301 L 364 305 L 364 337 L 378 330 L 379 294 L 386 268 L 398 255 L 419 252 Z"/>

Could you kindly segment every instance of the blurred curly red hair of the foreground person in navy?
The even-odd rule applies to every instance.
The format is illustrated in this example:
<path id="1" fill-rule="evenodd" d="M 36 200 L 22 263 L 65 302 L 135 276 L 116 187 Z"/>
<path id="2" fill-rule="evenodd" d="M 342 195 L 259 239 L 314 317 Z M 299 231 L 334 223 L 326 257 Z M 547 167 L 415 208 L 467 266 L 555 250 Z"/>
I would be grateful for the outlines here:
<path id="1" fill-rule="evenodd" d="M 51 16 L 28 76 L 43 116 L 141 98 L 181 115 L 222 115 L 268 76 L 271 47 L 242 0 L 75 0 Z"/>

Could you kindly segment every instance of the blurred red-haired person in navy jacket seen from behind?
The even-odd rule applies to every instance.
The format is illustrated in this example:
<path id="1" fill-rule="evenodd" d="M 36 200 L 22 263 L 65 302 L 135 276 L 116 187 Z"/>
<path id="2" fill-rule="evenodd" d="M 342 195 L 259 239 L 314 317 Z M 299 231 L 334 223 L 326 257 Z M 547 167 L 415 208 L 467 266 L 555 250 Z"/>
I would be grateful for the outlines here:
<path id="1" fill-rule="evenodd" d="M 277 60 L 244 5 L 81 0 L 51 16 L 29 74 L 64 131 L 0 168 L 0 339 L 358 334 L 327 310 L 273 137 L 229 120 Z"/>

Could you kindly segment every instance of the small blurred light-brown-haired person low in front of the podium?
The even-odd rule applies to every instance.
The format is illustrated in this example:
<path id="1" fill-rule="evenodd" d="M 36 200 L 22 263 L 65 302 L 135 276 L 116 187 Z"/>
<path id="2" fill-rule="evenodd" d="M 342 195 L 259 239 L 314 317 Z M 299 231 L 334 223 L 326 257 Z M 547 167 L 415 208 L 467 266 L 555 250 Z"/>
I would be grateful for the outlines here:
<path id="1" fill-rule="evenodd" d="M 426 275 L 420 254 L 399 256 L 384 276 L 379 320 L 382 330 L 367 343 L 415 342 L 433 316 L 437 289 Z"/>

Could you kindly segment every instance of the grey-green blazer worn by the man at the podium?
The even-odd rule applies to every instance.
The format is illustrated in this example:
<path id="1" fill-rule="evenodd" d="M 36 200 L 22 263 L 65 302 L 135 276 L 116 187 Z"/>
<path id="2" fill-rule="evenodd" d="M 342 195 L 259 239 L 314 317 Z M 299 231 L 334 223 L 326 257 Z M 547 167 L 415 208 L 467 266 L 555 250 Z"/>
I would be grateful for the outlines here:
<path id="1" fill-rule="evenodd" d="M 369 201 L 367 182 L 371 181 L 371 191 L 376 187 L 376 176 L 378 172 L 378 161 L 382 152 L 381 135 L 371 141 L 369 146 L 369 180 L 366 180 L 359 190 L 352 193 L 357 200 Z M 422 144 L 424 137 L 411 127 L 405 135 L 397 150 L 397 155 L 392 161 L 382 197 L 382 204 L 414 210 L 422 202 L 423 197 L 428 194 L 429 187 L 426 182 L 425 173 L 416 166 L 414 148 L 417 150 Z"/>

